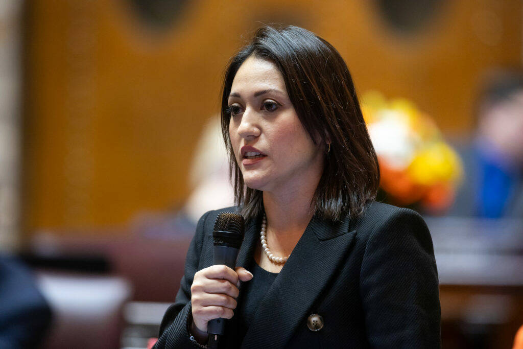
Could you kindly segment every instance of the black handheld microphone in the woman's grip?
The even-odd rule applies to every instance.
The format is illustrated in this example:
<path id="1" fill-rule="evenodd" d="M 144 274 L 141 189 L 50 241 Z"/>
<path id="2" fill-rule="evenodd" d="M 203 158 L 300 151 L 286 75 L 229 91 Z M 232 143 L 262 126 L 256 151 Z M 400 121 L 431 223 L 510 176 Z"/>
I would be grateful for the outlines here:
<path id="1" fill-rule="evenodd" d="M 234 270 L 245 231 L 242 215 L 234 212 L 222 212 L 214 222 L 212 237 L 214 240 L 214 264 L 223 264 Z M 217 348 L 220 336 L 225 332 L 225 319 L 213 319 L 207 323 L 209 334 L 208 348 Z"/>

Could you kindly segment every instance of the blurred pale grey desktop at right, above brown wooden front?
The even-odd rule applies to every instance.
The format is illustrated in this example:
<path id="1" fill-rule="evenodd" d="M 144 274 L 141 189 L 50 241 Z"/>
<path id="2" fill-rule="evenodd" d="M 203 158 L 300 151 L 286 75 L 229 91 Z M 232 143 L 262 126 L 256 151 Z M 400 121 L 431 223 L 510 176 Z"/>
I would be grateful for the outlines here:
<path id="1" fill-rule="evenodd" d="M 523 219 L 425 217 L 440 285 L 523 287 Z"/>

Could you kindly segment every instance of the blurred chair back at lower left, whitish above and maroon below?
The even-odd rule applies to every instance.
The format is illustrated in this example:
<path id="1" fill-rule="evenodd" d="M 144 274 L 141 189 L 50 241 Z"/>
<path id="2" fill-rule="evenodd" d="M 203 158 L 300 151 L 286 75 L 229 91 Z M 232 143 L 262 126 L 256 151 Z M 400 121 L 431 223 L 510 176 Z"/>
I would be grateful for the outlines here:
<path id="1" fill-rule="evenodd" d="M 120 347 L 123 306 L 131 298 L 127 280 L 39 272 L 38 285 L 54 314 L 44 348 Z"/>

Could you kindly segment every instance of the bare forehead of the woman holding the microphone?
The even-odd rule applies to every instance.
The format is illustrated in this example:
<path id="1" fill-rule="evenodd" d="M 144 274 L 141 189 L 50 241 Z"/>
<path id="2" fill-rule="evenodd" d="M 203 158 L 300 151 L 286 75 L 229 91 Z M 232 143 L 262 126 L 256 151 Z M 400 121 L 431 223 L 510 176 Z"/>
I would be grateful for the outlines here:
<path id="1" fill-rule="evenodd" d="M 278 88 L 286 92 L 283 76 L 270 61 L 251 56 L 243 62 L 236 72 L 231 86 L 231 92 L 241 93 L 260 87 Z"/>

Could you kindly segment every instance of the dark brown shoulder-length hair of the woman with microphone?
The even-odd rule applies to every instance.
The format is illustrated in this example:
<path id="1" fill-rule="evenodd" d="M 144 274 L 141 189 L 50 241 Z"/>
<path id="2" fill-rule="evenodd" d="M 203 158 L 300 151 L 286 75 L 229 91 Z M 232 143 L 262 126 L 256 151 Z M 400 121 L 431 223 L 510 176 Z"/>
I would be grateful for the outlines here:
<path id="1" fill-rule="evenodd" d="M 366 202 L 376 198 L 380 171 L 356 89 L 338 51 L 309 30 L 295 26 L 259 28 L 225 70 L 221 127 L 242 215 L 248 219 L 263 212 L 262 192 L 246 187 L 229 134 L 231 86 L 236 72 L 251 55 L 276 64 L 303 127 L 315 144 L 317 135 L 325 144 L 324 170 L 311 202 L 315 214 L 334 221 L 345 215 L 360 215 Z"/>

